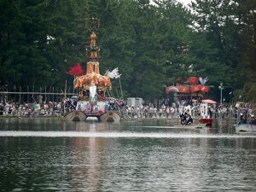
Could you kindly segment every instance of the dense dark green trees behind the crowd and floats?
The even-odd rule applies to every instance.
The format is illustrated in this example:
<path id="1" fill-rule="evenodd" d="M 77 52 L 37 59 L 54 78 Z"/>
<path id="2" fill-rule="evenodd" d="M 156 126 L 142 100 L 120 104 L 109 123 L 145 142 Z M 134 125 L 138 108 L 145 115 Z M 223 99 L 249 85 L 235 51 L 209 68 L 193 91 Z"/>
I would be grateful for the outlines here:
<path id="1" fill-rule="evenodd" d="M 256 101 L 256 3 L 196 0 L 2 0 L 0 84 L 64 87 L 81 62 L 87 18 L 101 20 L 101 73 L 119 67 L 125 96 L 165 96 L 177 77 L 208 77 L 211 94 Z M 119 92 L 113 80 L 113 92 Z M 234 90 L 234 91 L 233 91 Z M 227 96 L 227 98 L 229 98 Z"/>

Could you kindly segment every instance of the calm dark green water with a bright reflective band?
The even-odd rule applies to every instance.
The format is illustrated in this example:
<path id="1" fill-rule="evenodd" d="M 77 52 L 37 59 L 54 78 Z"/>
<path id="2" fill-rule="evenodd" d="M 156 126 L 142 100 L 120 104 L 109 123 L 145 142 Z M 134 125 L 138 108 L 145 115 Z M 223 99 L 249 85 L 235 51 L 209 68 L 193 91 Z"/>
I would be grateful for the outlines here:
<path id="1" fill-rule="evenodd" d="M 0 119 L 0 191 L 256 190 L 256 135 L 168 123 Z"/>

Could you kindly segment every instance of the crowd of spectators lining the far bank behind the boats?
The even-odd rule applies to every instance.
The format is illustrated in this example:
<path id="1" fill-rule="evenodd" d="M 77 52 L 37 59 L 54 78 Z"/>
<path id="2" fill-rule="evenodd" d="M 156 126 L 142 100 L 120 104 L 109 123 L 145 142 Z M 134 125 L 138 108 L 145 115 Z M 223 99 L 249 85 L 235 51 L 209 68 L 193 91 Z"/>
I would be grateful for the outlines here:
<path id="1" fill-rule="evenodd" d="M 177 102 L 170 100 L 162 100 L 161 102 L 140 103 L 137 106 L 128 105 L 125 101 L 108 100 L 108 110 L 119 111 L 129 118 L 167 118 L 181 119 L 184 124 L 192 124 L 193 119 L 201 117 L 201 101 L 190 99 L 180 99 Z M 2 101 L 0 103 L 1 115 L 17 115 L 17 116 L 52 116 L 61 115 L 72 110 L 78 109 L 76 99 L 67 98 L 63 102 L 33 102 L 17 104 L 15 102 Z M 239 107 L 224 104 L 208 105 L 208 118 L 240 118 L 241 122 L 247 122 L 247 119 L 254 117 L 255 111 L 249 104 L 244 104 Z M 183 120 L 182 120 L 183 119 Z"/>

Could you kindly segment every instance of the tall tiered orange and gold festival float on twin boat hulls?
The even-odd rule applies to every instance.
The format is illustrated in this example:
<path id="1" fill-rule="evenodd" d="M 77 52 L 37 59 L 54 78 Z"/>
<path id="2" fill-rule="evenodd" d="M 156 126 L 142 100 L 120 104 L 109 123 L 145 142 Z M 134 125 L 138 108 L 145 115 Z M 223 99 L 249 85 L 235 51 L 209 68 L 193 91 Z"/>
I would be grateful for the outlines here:
<path id="1" fill-rule="evenodd" d="M 86 73 L 74 79 L 74 89 L 79 90 L 76 110 L 64 114 L 64 118 L 73 121 L 98 119 L 99 121 L 117 122 L 120 119 L 119 113 L 109 110 L 108 104 L 113 101 L 106 97 L 107 89 L 112 88 L 110 78 L 107 74 L 100 74 L 100 49 L 97 45 L 99 20 L 92 18 L 88 20 L 88 23 L 94 31 L 90 33 L 89 44 L 85 49 Z"/>

